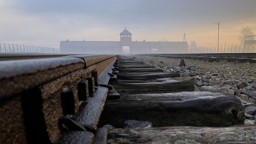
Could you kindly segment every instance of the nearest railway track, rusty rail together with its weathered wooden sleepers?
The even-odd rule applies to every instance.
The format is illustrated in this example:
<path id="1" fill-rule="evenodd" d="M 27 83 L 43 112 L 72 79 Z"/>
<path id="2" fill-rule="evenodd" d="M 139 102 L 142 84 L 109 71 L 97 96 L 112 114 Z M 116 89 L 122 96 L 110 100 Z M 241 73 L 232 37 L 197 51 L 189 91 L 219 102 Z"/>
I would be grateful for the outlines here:
<path id="1" fill-rule="evenodd" d="M 126 56 L 2 61 L 0 85 L 0 143 L 256 142 L 236 97 L 194 92 L 180 74 Z M 126 120 L 153 128 L 123 129 Z"/>

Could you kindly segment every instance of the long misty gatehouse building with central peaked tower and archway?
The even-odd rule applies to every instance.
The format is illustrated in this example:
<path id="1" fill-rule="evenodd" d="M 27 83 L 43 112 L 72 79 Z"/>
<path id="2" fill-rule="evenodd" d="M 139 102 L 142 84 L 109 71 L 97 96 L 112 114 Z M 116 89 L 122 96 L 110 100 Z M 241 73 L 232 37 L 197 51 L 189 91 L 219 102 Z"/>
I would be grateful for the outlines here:
<path id="1" fill-rule="evenodd" d="M 188 53 L 187 42 L 131 41 L 126 28 L 120 33 L 120 41 L 61 41 L 61 53 L 81 54 L 140 54 L 140 53 Z"/>

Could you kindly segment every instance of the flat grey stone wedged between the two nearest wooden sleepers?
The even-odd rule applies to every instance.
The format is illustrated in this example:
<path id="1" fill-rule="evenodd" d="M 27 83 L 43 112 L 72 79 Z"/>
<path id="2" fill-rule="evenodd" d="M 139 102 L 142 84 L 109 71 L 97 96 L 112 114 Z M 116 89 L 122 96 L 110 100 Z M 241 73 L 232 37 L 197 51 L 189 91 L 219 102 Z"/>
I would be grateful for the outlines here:
<path id="1" fill-rule="evenodd" d="M 132 128 L 132 129 L 139 129 L 139 128 L 149 128 L 152 127 L 153 124 L 149 121 L 136 121 L 136 120 L 126 120 L 123 124 L 123 128 Z"/>

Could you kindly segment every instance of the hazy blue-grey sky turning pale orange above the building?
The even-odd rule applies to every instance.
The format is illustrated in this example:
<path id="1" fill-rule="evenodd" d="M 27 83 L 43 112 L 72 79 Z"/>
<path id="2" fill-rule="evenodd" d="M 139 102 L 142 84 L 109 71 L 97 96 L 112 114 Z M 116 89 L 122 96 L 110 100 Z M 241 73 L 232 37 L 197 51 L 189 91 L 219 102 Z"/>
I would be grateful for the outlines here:
<path id="1" fill-rule="evenodd" d="M 238 44 L 243 27 L 256 33 L 256 0 L 0 0 L 0 42 L 59 48 L 61 40 L 195 40 Z"/>

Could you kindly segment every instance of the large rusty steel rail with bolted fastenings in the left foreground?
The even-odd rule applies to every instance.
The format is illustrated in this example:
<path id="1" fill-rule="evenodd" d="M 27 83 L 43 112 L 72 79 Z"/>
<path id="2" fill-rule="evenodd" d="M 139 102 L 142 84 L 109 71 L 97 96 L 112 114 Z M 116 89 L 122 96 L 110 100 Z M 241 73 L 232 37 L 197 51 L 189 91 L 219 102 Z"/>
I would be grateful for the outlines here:
<path id="1" fill-rule="evenodd" d="M 0 62 L 0 143 L 92 143 L 116 58 Z"/>

